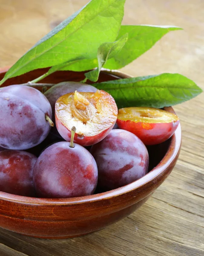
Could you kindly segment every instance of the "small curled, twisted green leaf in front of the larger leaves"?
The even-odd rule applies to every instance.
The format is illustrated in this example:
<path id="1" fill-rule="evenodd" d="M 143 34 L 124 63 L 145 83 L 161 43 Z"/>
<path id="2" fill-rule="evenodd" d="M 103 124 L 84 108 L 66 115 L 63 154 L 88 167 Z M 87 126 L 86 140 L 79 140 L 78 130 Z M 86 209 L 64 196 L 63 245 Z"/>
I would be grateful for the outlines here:
<path id="1" fill-rule="evenodd" d="M 109 58 L 112 58 L 121 51 L 121 49 L 124 47 L 125 42 L 127 41 L 127 38 L 128 34 L 126 33 L 125 35 L 121 36 L 118 41 L 101 44 L 97 52 L 98 67 L 95 70 L 85 73 L 86 78 L 90 81 L 96 82 L 98 80 L 98 76 L 103 65 Z"/>

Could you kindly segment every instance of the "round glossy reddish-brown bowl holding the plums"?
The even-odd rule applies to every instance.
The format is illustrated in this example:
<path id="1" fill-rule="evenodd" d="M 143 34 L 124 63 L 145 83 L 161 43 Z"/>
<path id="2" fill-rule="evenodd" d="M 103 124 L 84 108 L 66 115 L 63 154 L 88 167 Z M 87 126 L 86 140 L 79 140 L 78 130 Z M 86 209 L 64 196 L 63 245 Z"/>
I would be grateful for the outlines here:
<path id="1" fill-rule="evenodd" d="M 0 70 L 0 79 L 5 71 Z M 47 69 L 34 70 L 9 79 L 3 86 L 22 84 L 42 75 Z M 103 70 L 100 81 L 129 76 Z M 60 71 L 44 79 L 44 83 L 81 81 L 83 72 Z M 165 108 L 173 112 L 172 108 Z M 0 227 L 40 238 L 69 238 L 99 230 L 128 216 L 141 207 L 175 166 L 181 148 L 181 127 L 160 145 L 150 146 L 149 173 L 129 185 L 95 195 L 44 199 L 0 192 Z"/>

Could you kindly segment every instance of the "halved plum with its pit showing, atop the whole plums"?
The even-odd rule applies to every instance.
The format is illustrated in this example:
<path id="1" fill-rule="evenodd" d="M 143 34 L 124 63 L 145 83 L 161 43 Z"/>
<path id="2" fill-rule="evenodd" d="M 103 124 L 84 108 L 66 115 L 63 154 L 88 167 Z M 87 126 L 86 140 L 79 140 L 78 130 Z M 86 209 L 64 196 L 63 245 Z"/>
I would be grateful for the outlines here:
<path id="1" fill-rule="evenodd" d="M 76 127 L 75 143 L 89 146 L 103 140 L 117 120 L 118 108 L 113 97 L 103 90 L 95 93 L 68 93 L 55 104 L 55 121 L 59 134 L 70 141 Z"/>

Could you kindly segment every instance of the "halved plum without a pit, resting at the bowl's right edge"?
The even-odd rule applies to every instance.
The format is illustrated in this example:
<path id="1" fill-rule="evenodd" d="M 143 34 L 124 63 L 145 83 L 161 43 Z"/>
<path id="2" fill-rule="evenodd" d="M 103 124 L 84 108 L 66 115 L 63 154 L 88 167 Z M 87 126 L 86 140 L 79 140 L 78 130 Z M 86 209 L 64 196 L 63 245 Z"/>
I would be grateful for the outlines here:
<path id="1" fill-rule="evenodd" d="M 119 128 L 132 132 L 145 145 L 155 145 L 168 140 L 178 124 L 178 116 L 158 108 L 133 107 L 118 110 Z"/>

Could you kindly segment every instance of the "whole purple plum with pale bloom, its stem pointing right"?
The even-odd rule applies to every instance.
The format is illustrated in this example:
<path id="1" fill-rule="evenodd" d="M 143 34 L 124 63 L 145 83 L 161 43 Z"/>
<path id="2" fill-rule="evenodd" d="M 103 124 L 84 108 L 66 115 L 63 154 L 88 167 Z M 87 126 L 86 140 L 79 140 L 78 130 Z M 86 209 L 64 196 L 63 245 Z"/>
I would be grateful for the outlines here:
<path id="1" fill-rule="evenodd" d="M 52 119 L 49 101 L 38 90 L 26 85 L 0 89 L 0 146 L 24 150 L 40 144 L 49 134 Z"/>

